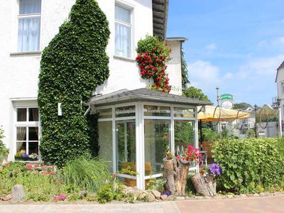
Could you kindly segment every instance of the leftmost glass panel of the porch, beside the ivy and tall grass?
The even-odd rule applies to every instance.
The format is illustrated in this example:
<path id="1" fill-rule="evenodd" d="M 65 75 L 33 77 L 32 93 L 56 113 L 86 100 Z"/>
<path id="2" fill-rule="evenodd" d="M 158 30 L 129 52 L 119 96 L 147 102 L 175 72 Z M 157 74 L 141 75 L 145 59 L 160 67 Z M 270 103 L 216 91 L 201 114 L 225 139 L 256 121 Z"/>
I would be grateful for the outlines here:
<path id="1" fill-rule="evenodd" d="M 112 121 L 99 122 L 99 157 L 107 160 L 111 172 L 112 159 Z"/>

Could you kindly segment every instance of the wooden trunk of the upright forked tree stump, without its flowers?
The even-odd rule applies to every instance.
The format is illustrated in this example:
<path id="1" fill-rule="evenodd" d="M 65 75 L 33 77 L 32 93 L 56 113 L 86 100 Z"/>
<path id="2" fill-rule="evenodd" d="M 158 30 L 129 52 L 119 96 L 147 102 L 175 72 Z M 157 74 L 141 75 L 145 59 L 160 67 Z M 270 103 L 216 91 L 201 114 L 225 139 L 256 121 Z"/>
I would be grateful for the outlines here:
<path id="1" fill-rule="evenodd" d="M 190 169 L 190 163 L 182 163 L 180 160 L 163 160 L 163 178 L 165 190 L 170 191 L 175 196 L 185 196 L 185 187 L 187 184 L 187 175 Z"/>

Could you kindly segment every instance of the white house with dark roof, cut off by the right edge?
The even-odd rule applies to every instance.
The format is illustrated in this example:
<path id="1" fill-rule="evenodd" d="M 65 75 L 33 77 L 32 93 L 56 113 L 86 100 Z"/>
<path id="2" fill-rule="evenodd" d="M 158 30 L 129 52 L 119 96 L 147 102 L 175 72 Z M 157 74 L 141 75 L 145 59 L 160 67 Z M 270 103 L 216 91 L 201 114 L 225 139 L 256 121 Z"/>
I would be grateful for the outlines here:
<path id="1" fill-rule="evenodd" d="M 280 99 L 281 120 L 284 121 L 284 61 L 277 68 L 275 83 L 277 84 L 278 99 Z"/>

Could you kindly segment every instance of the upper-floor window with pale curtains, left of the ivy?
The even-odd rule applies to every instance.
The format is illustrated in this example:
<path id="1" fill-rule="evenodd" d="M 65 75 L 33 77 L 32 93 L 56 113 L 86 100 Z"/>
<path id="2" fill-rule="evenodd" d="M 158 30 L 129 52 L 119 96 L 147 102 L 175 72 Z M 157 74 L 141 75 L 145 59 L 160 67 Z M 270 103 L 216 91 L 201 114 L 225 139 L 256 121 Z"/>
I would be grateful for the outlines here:
<path id="1" fill-rule="evenodd" d="M 19 0 L 18 52 L 40 48 L 41 0 Z"/>

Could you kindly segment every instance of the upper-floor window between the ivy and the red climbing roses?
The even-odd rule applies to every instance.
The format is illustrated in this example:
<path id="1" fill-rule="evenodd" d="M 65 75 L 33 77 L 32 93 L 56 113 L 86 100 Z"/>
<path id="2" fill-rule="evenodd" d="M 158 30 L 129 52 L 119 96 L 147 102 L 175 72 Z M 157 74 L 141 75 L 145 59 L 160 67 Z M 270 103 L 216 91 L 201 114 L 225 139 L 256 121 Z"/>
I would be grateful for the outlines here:
<path id="1" fill-rule="evenodd" d="M 115 6 L 115 55 L 131 58 L 131 10 Z"/>

